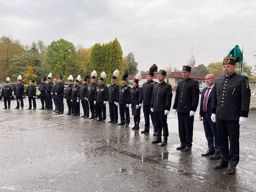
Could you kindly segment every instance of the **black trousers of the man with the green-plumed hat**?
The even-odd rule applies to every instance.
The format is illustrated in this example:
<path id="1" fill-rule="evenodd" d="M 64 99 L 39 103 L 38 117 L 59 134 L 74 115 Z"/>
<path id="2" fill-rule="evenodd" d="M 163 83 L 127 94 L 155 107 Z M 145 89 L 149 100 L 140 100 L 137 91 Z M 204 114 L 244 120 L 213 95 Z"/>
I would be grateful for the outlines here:
<path id="1" fill-rule="evenodd" d="M 239 162 L 239 121 L 216 119 L 220 143 L 220 162 L 236 166 Z"/>

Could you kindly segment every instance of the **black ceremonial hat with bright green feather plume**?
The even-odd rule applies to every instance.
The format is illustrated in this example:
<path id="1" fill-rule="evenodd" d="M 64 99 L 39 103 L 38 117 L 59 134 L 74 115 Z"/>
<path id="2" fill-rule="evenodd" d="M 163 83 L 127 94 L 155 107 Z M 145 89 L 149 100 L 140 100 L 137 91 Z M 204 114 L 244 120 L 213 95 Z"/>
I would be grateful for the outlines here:
<path id="1" fill-rule="evenodd" d="M 238 45 L 236 45 L 226 57 L 223 59 L 223 65 L 236 65 L 237 62 L 243 61 L 243 53 Z"/>

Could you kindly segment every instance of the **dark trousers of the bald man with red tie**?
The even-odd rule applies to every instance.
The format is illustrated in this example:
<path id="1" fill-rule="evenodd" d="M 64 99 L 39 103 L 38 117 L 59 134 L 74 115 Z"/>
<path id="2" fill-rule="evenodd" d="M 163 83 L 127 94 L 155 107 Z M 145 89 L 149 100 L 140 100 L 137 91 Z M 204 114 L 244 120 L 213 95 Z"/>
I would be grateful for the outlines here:
<path id="1" fill-rule="evenodd" d="M 203 124 L 205 137 L 208 142 L 208 149 L 211 152 L 220 154 L 220 146 L 216 123 L 212 122 L 211 118 L 208 118 L 207 114 L 204 113 Z"/>

